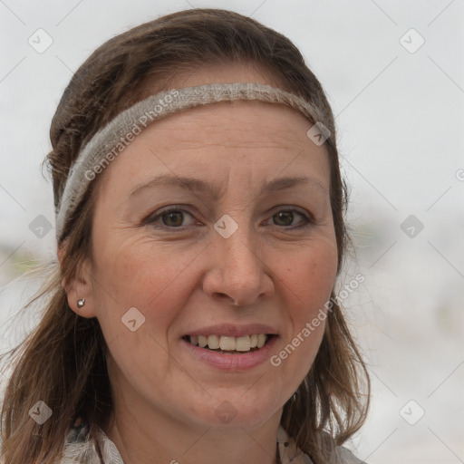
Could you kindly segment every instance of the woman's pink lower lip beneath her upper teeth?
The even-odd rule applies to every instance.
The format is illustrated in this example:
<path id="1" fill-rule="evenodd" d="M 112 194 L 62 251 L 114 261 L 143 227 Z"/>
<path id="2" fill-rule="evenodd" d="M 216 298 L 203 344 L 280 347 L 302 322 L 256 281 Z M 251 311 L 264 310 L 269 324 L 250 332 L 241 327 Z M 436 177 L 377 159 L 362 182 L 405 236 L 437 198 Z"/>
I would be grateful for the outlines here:
<path id="1" fill-rule="evenodd" d="M 199 360 L 206 362 L 212 367 L 224 371 L 245 371 L 252 369 L 257 365 L 269 359 L 269 353 L 277 342 L 277 336 L 274 335 L 262 348 L 255 352 L 243 354 L 224 354 L 213 352 L 208 348 L 201 348 L 195 344 L 181 339 L 184 346 Z"/>

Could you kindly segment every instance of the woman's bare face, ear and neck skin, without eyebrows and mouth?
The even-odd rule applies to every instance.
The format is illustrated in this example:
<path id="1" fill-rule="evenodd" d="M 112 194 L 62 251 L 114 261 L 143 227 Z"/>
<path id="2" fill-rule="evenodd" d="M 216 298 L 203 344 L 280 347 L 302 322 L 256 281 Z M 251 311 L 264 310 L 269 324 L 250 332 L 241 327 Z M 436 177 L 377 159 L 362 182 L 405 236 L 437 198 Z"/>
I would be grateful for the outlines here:
<path id="1" fill-rule="evenodd" d="M 208 82 L 273 84 L 237 65 L 170 83 Z M 268 324 L 278 354 L 324 307 L 337 248 L 328 155 L 307 138 L 312 125 L 284 105 L 214 103 L 151 124 L 101 174 L 92 256 L 68 300 L 102 325 L 115 401 L 105 432 L 125 464 L 275 462 L 283 406 L 314 361 L 324 323 L 279 366 L 246 372 L 199 361 L 181 337 L 209 324 Z M 160 174 L 213 183 L 220 196 L 174 186 L 130 195 Z M 259 195 L 265 182 L 302 176 L 311 182 Z M 183 216 L 144 222 L 172 205 Z M 290 218 L 276 215 L 289 209 Z M 306 223 L 298 212 L 313 219 L 292 228 Z M 213 227 L 225 214 L 238 225 L 227 239 Z M 135 332 L 121 324 L 131 307 L 145 316 Z M 215 413 L 223 401 L 237 411 L 228 423 Z"/>

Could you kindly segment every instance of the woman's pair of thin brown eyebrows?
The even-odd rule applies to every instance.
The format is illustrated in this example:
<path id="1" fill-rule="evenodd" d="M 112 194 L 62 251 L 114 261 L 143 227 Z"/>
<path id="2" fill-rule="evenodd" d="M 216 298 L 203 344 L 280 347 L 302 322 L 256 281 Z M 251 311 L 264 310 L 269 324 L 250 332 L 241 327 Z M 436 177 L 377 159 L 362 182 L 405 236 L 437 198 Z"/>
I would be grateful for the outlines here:
<path id="1" fill-rule="evenodd" d="M 320 189 L 324 192 L 324 194 L 328 193 L 327 188 L 324 186 L 322 182 L 317 179 L 307 178 L 307 177 L 285 177 L 271 180 L 270 182 L 266 182 L 262 185 L 258 196 L 259 195 L 266 195 L 275 191 L 290 189 L 292 187 L 298 185 L 308 185 L 314 186 L 317 189 Z M 181 189 L 189 189 L 194 192 L 198 193 L 208 193 L 208 195 L 217 200 L 222 196 L 221 189 L 218 185 L 205 182 L 201 179 L 189 178 L 189 177 L 180 177 L 180 176 L 173 176 L 170 174 L 163 174 L 157 176 L 153 179 L 150 179 L 146 182 L 142 182 L 139 185 L 136 185 L 131 192 L 127 196 L 127 198 L 131 198 L 140 194 L 141 191 L 145 189 L 153 189 L 156 187 L 179 187 Z"/>

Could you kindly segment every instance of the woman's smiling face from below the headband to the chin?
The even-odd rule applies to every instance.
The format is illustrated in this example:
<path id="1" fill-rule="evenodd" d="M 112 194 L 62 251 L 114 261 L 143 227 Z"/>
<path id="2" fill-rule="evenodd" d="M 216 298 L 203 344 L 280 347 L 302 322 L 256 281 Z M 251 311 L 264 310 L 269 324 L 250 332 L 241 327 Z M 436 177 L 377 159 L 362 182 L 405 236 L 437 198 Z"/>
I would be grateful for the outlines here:
<path id="1" fill-rule="evenodd" d="M 83 309 L 102 325 L 117 409 L 255 427 L 303 381 L 337 268 L 312 125 L 283 105 L 213 103 L 153 123 L 100 175 Z"/>

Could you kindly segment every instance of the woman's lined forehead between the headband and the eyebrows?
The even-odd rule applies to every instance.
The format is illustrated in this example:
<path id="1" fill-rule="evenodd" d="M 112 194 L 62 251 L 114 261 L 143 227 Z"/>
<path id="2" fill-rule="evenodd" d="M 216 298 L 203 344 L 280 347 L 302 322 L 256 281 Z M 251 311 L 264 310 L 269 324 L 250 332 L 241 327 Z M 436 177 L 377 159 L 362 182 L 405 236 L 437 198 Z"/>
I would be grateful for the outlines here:
<path id="1" fill-rule="evenodd" d="M 215 183 L 232 176 L 248 179 L 249 186 L 308 175 L 328 189 L 326 149 L 306 135 L 312 125 L 275 103 L 218 102 L 181 111 L 152 123 L 122 151 L 104 175 L 102 192 L 129 192 L 160 174 Z"/>

